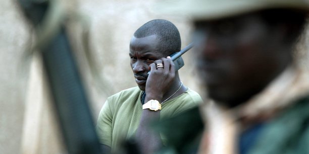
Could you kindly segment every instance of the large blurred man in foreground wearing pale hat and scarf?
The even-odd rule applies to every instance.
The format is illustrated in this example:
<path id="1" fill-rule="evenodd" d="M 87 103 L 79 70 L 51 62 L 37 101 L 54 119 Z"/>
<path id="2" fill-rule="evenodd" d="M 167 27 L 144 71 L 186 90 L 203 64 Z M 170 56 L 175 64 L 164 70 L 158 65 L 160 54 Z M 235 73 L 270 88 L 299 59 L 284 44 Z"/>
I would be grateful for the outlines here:
<path id="1" fill-rule="evenodd" d="M 309 76 L 293 58 L 308 3 L 174 4 L 193 17 L 197 71 L 212 100 L 200 106 L 199 153 L 309 153 Z"/>

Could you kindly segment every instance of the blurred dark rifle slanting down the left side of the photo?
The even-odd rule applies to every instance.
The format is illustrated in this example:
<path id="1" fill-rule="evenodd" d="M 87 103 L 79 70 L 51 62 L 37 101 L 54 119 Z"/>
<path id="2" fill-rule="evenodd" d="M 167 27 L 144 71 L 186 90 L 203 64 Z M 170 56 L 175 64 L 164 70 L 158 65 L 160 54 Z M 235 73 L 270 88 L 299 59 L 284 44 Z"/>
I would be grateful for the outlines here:
<path id="1" fill-rule="evenodd" d="M 36 28 L 46 16 L 50 1 L 19 0 L 26 17 Z M 46 45 L 41 57 L 53 96 L 58 121 L 69 153 L 103 153 L 95 132 L 88 99 L 63 25 Z"/>

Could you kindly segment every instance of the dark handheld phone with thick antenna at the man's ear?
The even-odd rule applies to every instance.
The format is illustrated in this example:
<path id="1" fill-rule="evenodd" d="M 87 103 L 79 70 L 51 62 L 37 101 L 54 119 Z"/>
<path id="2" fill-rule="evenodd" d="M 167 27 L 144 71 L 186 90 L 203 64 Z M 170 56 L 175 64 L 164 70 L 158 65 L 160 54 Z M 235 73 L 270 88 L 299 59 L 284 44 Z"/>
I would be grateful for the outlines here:
<path id="1" fill-rule="evenodd" d="M 173 54 L 170 55 L 171 59 L 174 62 L 175 65 L 175 71 L 177 71 L 178 69 L 180 69 L 182 66 L 184 66 L 184 61 L 181 57 L 182 54 L 186 53 L 188 50 L 190 50 L 193 47 L 193 42 L 190 43 L 189 45 L 187 45 L 185 48 L 183 48 L 182 50 L 180 50 L 179 52 L 175 52 Z M 150 71 L 148 71 L 148 74 L 150 73 Z"/>

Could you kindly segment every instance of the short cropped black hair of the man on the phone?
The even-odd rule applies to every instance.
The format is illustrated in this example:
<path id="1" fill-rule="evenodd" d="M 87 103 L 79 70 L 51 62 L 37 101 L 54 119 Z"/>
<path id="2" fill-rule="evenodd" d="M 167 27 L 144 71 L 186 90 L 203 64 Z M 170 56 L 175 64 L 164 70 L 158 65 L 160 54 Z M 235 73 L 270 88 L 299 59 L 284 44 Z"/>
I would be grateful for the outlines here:
<path id="1" fill-rule="evenodd" d="M 150 35 L 157 35 L 160 41 L 160 51 L 168 55 L 180 51 L 180 34 L 177 27 L 170 21 L 163 19 L 151 20 L 138 28 L 134 33 L 134 37 L 136 38 Z"/>

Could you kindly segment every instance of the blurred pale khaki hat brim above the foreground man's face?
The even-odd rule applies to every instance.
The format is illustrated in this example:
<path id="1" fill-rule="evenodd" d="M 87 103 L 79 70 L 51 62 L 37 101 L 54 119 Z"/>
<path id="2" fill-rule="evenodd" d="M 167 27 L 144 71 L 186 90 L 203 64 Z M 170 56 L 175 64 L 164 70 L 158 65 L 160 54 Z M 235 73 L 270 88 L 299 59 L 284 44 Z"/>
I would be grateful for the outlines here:
<path id="1" fill-rule="evenodd" d="M 166 0 L 155 5 L 164 14 L 211 20 L 267 9 L 309 11 L 309 0 Z"/>

